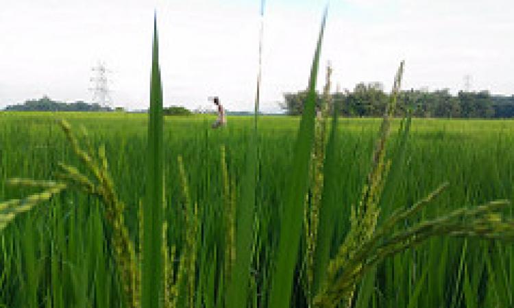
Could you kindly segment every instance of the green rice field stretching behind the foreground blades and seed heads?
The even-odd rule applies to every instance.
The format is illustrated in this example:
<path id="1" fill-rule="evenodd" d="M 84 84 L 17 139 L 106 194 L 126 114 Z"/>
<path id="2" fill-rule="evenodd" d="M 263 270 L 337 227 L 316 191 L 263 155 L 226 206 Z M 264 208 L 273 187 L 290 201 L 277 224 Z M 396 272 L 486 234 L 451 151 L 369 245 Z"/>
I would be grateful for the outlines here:
<path id="1" fill-rule="evenodd" d="M 8 178 L 53 179 L 58 162 L 78 165 L 56 125 L 60 118 L 69 120 L 77 134 L 85 127 L 93 146 L 106 144 L 117 192 L 127 206 L 130 236 L 138 242 L 146 114 L 0 112 L 0 201 L 31 192 L 5 186 Z M 191 198 L 204 226 L 198 258 L 206 264 L 205 260 L 216 262 L 223 256 L 216 250 L 223 238 L 223 224 L 218 223 L 224 206 L 221 146 L 226 148 L 228 172 L 238 189 L 245 140 L 253 125 L 251 117 L 234 116 L 228 118 L 228 127 L 212 130 L 213 120 L 214 116 L 170 116 L 164 123 L 169 244 L 180 251 L 184 242 L 177 165 L 182 155 Z M 393 124 L 392 142 L 399 122 Z M 347 230 L 350 205 L 360 199 L 380 119 L 342 118 L 340 123 L 336 168 L 341 210 L 334 217 L 340 237 L 334 247 Z M 288 116 L 261 117 L 258 122 L 255 277 L 261 281 L 271 268 L 269 247 L 276 245 L 278 211 L 288 185 L 298 124 L 299 118 Z M 415 203 L 443 181 L 449 181 L 450 188 L 424 209 L 423 217 L 495 199 L 514 200 L 513 145 L 514 120 L 414 119 L 394 206 Z M 101 222 L 98 204 L 96 198 L 66 192 L 16 218 L 0 233 L 0 307 L 121 307 L 119 281 L 112 274 L 111 252 L 104 240 L 109 230 Z M 391 308 L 513 307 L 513 290 L 512 244 L 434 238 L 379 268 L 371 303 Z"/>

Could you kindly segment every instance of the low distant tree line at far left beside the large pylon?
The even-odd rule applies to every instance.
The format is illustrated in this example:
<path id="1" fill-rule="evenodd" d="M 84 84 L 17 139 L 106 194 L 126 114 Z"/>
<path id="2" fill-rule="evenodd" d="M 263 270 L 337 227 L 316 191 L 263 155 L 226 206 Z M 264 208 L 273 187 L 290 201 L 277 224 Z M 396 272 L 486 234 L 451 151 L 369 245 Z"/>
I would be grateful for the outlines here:
<path id="1" fill-rule="evenodd" d="M 102 107 L 97 103 L 85 103 L 76 101 L 75 103 L 62 103 L 53 101 L 45 96 L 41 99 L 25 101 L 21 105 L 10 105 L 5 107 L 7 111 L 47 111 L 47 112 L 110 112 L 110 107 Z"/>

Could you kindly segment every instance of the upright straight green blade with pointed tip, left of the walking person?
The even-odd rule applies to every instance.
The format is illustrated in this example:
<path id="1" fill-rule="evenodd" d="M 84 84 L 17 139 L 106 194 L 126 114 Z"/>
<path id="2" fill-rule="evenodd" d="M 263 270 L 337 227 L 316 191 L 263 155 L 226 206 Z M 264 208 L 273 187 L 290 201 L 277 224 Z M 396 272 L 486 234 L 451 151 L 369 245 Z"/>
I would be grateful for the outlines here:
<path id="1" fill-rule="evenodd" d="M 154 18 L 154 49 L 151 64 L 148 123 L 147 203 L 143 207 L 143 264 L 141 307 L 158 308 L 162 290 L 162 86 L 158 60 L 157 18 Z"/>

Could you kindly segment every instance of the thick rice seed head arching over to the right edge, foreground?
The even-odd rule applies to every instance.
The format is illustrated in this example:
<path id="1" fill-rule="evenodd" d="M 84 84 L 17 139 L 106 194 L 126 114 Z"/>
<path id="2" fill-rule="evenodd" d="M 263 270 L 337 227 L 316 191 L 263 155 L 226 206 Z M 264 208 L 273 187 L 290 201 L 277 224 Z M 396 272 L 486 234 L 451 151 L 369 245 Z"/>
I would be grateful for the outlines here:
<path id="1" fill-rule="evenodd" d="M 354 291 L 354 285 L 362 279 L 367 270 L 386 257 L 413 248 L 428 238 L 450 235 L 514 240 L 514 221 L 502 220 L 498 214 L 500 209 L 510 204 L 508 201 L 492 201 L 474 209 L 456 209 L 446 216 L 419 222 L 405 231 L 390 235 L 389 231 L 397 222 L 417 214 L 419 209 L 440 194 L 444 187 L 445 185 L 441 185 L 402 214 L 391 216 L 384 223 L 383 229 L 377 231 L 371 240 L 360 245 L 354 254 L 338 264 L 338 278 L 331 281 L 327 290 L 316 296 L 315 307 L 336 307 L 341 301 L 347 303 L 347 298 Z"/>

